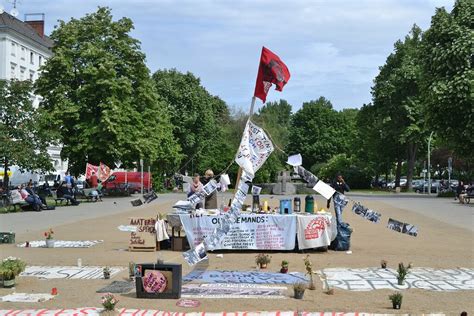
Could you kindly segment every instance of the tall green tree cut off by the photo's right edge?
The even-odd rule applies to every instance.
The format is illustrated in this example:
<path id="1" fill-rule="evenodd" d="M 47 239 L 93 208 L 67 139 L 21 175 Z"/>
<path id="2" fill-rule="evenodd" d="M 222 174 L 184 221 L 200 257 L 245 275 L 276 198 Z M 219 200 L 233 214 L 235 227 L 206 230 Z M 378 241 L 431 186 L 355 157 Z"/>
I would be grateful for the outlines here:
<path id="1" fill-rule="evenodd" d="M 461 157 L 474 157 L 474 2 L 436 10 L 423 36 L 424 113 L 429 128 Z"/>

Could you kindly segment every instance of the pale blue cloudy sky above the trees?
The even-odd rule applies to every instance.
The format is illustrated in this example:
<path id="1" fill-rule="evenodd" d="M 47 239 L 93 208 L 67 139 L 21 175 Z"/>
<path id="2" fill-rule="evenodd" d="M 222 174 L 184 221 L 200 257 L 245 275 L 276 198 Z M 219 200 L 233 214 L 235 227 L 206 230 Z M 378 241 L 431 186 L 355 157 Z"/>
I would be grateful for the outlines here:
<path id="1" fill-rule="evenodd" d="M 261 47 L 278 54 L 291 72 L 282 93 L 297 110 L 325 96 L 336 109 L 370 102 L 370 87 L 393 49 L 416 23 L 429 27 L 436 7 L 454 0 L 20 0 L 25 13 L 46 14 L 46 33 L 57 20 L 112 8 L 131 18 L 152 72 L 190 71 L 230 106 L 248 109 Z M 10 1 L 0 0 L 9 11 Z M 261 104 L 261 102 L 259 103 Z"/>

